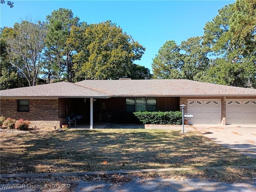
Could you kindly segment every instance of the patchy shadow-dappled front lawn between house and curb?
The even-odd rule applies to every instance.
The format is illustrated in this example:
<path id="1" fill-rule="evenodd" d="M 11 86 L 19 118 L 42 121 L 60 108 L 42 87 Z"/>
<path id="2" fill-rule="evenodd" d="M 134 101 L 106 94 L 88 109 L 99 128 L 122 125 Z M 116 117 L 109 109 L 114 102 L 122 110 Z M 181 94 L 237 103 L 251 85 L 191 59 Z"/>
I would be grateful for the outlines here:
<path id="1" fill-rule="evenodd" d="M 197 132 L 94 129 L 2 131 L 0 136 L 1 174 L 256 165 L 256 159 Z M 206 177 L 220 174 L 216 171 L 198 170 Z M 222 175 L 235 172 L 230 168 Z"/>

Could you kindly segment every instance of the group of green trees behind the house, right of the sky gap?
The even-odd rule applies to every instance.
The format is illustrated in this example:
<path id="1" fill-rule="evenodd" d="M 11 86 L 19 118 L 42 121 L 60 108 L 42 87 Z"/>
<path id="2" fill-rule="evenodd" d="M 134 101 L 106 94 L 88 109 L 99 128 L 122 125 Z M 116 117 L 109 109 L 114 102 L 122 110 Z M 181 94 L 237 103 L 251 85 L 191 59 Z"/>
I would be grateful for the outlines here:
<path id="1" fill-rule="evenodd" d="M 167 41 L 153 59 L 153 77 L 256 88 L 256 1 L 237 0 L 218 13 L 205 24 L 204 36 L 175 49 Z M 179 64 L 170 65 L 168 57 Z"/>

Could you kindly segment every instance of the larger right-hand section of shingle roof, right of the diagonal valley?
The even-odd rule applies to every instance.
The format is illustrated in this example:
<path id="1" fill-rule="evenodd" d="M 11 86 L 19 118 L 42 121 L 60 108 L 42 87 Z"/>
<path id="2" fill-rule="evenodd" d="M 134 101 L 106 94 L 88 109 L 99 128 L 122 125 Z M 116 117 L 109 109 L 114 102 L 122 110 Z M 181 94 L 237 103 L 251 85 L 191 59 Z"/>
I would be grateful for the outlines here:
<path id="1" fill-rule="evenodd" d="M 256 96 L 256 89 L 203 83 L 187 79 L 84 80 L 75 84 L 115 96 Z"/>

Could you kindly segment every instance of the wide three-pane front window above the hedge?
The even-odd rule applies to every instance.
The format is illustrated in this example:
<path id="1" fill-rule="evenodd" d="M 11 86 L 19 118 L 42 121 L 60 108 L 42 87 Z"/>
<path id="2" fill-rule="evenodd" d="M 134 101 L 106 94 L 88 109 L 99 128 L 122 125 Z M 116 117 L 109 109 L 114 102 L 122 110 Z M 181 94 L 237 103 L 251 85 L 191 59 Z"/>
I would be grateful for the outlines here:
<path id="1" fill-rule="evenodd" d="M 156 98 L 126 98 L 126 112 L 156 111 Z"/>

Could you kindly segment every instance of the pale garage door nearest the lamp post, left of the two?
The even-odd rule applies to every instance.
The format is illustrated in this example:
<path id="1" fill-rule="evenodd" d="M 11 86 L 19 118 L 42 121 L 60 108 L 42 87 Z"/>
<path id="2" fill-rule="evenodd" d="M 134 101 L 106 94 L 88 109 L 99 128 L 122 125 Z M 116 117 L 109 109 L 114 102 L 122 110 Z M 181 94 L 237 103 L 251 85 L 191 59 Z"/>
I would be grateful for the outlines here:
<path id="1" fill-rule="evenodd" d="M 220 99 L 188 99 L 188 113 L 194 115 L 189 124 L 220 124 Z"/>

